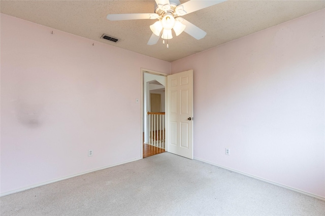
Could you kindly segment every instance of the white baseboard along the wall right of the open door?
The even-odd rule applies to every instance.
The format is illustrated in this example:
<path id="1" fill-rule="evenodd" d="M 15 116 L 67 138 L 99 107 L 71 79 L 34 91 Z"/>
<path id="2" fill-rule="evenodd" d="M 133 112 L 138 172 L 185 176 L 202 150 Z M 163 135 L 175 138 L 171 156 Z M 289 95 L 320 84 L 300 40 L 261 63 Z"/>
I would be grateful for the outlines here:
<path id="1" fill-rule="evenodd" d="M 211 165 L 220 167 L 222 169 L 227 169 L 227 170 L 230 170 L 230 171 L 233 171 L 233 172 L 237 172 L 239 174 L 246 175 L 246 176 L 251 177 L 251 178 L 255 178 L 255 179 L 257 179 L 259 181 L 262 181 L 262 182 L 266 182 L 266 183 L 269 183 L 269 184 L 272 184 L 272 185 L 275 185 L 275 186 L 278 186 L 278 187 L 281 187 L 281 188 L 288 189 L 290 191 L 295 191 L 295 192 L 298 192 L 298 193 L 301 193 L 301 194 L 304 194 L 304 195 L 307 195 L 307 196 L 310 196 L 310 197 L 313 197 L 313 198 L 316 198 L 316 199 L 325 201 L 325 197 L 320 197 L 320 196 L 317 196 L 315 194 L 308 193 L 306 191 L 302 191 L 302 190 L 299 190 L 299 189 L 296 189 L 296 188 L 291 188 L 289 186 L 282 185 L 282 184 L 279 184 L 279 183 L 276 183 L 276 182 L 272 182 L 272 181 L 270 181 L 268 179 L 261 178 L 261 177 L 255 176 L 255 175 L 251 175 L 251 174 L 248 174 L 246 172 L 242 172 L 242 171 L 239 171 L 239 170 L 236 170 L 236 169 L 232 169 L 232 168 L 229 168 L 229 167 L 221 166 L 219 164 L 215 164 L 215 163 L 212 163 L 212 162 L 209 162 L 209 161 L 205 161 L 205 160 L 202 160 L 202 159 L 199 159 L 199 158 L 194 158 L 194 160 L 202 161 L 204 163 L 208 163 L 208 164 L 211 164 Z"/>

